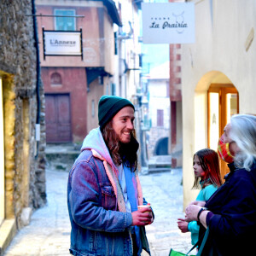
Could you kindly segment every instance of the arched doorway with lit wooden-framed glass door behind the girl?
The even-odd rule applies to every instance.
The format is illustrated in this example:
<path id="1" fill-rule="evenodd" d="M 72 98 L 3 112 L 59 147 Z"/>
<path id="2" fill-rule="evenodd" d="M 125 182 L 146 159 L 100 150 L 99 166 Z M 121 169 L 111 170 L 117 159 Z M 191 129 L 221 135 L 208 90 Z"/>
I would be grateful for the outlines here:
<path id="1" fill-rule="evenodd" d="M 217 151 L 218 138 L 233 114 L 239 113 L 239 94 L 232 81 L 218 71 L 206 73 L 195 88 L 195 151 Z M 220 160 L 221 177 L 229 172 Z"/>

